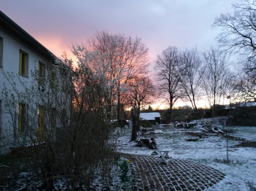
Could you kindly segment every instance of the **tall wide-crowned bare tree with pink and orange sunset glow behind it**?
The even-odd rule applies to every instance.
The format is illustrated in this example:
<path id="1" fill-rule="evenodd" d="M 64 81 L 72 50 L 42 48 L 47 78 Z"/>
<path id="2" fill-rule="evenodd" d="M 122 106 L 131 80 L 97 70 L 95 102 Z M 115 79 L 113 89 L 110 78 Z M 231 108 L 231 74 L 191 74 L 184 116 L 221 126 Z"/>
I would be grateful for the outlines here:
<path id="1" fill-rule="evenodd" d="M 109 34 L 105 31 L 97 32 L 92 39 L 89 39 L 88 47 L 90 50 L 99 51 L 101 55 L 107 54 L 108 62 L 116 63 L 112 65 L 112 77 L 120 76 L 118 71 L 123 71 L 115 91 L 118 97 L 117 113 L 118 121 L 120 121 L 120 89 L 128 80 L 147 70 L 148 48 L 141 38 L 133 39 L 124 34 Z M 115 50 L 115 55 L 113 55 L 113 50 Z"/>

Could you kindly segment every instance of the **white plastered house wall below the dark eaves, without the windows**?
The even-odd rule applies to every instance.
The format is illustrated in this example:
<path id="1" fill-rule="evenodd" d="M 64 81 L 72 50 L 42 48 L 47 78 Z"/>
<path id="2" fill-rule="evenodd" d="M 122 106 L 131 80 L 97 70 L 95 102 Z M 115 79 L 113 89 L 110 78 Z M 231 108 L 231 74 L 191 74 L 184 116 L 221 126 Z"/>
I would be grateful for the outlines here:
<path id="1" fill-rule="evenodd" d="M 40 55 L 40 53 L 33 50 L 30 46 L 25 44 L 25 42 L 22 42 L 17 37 L 14 37 L 14 35 L 7 32 L 5 29 L 0 27 L 0 38 L 3 43 L 3 55 L 2 55 L 2 63 L 1 67 L 4 70 L 4 73 L 9 73 L 12 75 L 15 75 L 15 82 L 17 83 L 17 87 L 19 90 L 23 90 L 22 86 L 19 83 L 19 80 L 17 79 L 17 75 L 23 79 L 25 79 L 28 83 L 32 80 L 31 76 L 31 70 L 34 70 L 35 68 L 38 69 L 38 62 L 46 63 L 47 59 L 43 57 L 43 55 Z M 1 50 L 1 49 L 0 49 Z M 19 51 L 22 50 L 28 54 L 28 73 L 27 77 L 19 75 Z M 8 124 L 8 121 L 10 120 L 10 115 L 4 111 L 4 99 L 2 95 L 2 90 L 4 88 L 4 85 L 7 89 L 12 90 L 12 87 L 10 87 L 10 84 L 6 78 L 4 78 L 4 75 L 0 73 L 0 101 L 2 105 L 2 113 L 1 113 L 1 137 L 0 137 L 0 154 L 5 154 L 9 151 L 9 146 L 14 146 L 14 137 L 13 137 L 13 129 L 10 129 Z M 17 127 L 16 127 L 17 128 Z M 3 140 L 4 132 L 9 131 L 11 132 L 11 136 L 9 137 L 9 141 L 1 141 Z"/>

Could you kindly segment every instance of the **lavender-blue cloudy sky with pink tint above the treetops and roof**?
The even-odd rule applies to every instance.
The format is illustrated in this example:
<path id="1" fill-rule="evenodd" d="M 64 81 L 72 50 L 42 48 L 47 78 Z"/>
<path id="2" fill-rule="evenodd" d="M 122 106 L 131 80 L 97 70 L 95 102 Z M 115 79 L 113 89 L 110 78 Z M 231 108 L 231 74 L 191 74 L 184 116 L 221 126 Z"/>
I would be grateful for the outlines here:
<path id="1" fill-rule="evenodd" d="M 95 32 L 141 37 L 151 63 L 168 46 L 217 47 L 215 17 L 239 0 L 0 0 L 0 10 L 57 56 Z M 69 53 L 70 54 L 70 53 Z"/>

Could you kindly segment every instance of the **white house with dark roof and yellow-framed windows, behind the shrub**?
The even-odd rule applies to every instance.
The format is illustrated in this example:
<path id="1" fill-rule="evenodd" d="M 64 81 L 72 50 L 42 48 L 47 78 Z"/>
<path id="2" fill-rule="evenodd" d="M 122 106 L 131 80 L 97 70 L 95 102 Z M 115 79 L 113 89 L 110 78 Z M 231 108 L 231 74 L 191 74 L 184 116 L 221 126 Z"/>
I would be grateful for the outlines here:
<path id="1" fill-rule="evenodd" d="M 54 55 L 47 48 L 0 11 L 0 70 L 2 71 L 0 73 L 0 92 L 4 90 L 4 86 L 12 88 L 9 87 L 9 81 L 4 77 L 3 71 L 30 82 L 32 80 L 31 70 L 36 68 L 39 73 L 43 73 L 45 63 L 53 62 L 53 60 Z M 19 88 L 19 80 L 15 79 Z M 19 90 L 22 90 L 22 86 Z M 0 154 L 5 154 L 9 151 L 9 147 L 16 146 L 17 139 L 25 139 L 22 118 L 26 115 L 26 103 L 17 103 L 18 117 L 14 118 L 16 125 L 14 129 L 10 129 L 6 124 L 13 119 L 4 111 L 3 96 L 0 93 Z M 11 132 L 8 139 L 6 131 Z M 17 134 L 18 138 L 14 134 Z"/>

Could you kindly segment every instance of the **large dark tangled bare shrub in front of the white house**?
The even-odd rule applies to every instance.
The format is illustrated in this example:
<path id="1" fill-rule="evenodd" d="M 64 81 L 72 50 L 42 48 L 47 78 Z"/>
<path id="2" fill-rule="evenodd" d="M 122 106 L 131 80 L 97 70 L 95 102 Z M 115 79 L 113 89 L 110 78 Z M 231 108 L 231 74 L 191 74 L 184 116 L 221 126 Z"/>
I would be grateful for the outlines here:
<path id="1" fill-rule="evenodd" d="M 92 186 L 95 177 L 111 181 L 116 139 L 106 108 L 118 78 L 107 79 L 107 68 L 91 67 L 92 62 L 110 67 L 97 52 L 79 47 L 73 52 L 84 60 L 73 65 L 64 55 L 45 63 L 43 71 L 35 68 L 29 82 L 1 70 L 9 80 L 3 90 L 9 117 L 4 137 L 14 140 L 12 150 L 27 158 L 39 189 L 53 190 L 59 180 L 79 190 Z"/>

